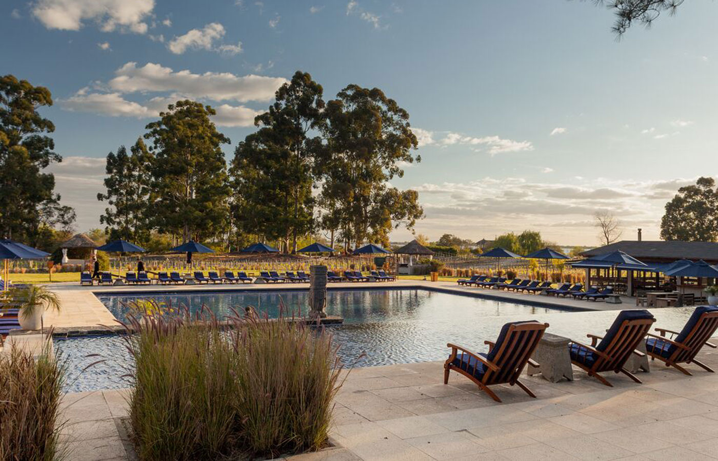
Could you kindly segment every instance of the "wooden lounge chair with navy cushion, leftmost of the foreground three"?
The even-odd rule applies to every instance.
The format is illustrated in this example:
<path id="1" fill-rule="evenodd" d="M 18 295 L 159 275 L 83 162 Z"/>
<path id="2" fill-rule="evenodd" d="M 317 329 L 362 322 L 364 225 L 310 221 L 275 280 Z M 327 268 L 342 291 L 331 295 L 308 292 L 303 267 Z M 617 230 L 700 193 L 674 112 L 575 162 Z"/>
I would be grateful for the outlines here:
<path id="1" fill-rule="evenodd" d="M 531 354 L 548 327 L 548 323 L 536 320 L 506 323 L 495 343 L 484 341 L 489 345 L 488 353 L 473 353 L 461 346 L 447 344 L 452 351 L 444 363 L 444 384 L 449 383 L 449 371 L 454 370 L 474 381 L 495 401 L 501 399 L 488 386 L 505 383 L 511 386 L 518 384 L 526 394 L 536 398 L 536 394 L 519 381 L 518 376 L 526 363 L 531 361 Z"/>

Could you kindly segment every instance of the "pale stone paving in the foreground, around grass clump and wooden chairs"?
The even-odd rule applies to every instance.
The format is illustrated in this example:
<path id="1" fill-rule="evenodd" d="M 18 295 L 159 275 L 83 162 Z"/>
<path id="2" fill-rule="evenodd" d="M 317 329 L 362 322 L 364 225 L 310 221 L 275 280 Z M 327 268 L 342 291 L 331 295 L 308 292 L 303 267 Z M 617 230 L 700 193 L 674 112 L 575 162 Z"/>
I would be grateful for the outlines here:
<path id="1" fill-rule="evenodd" d="M 714 342 L 718 338 L 714 338 Z M 699 360 L 718 367 L 718 353 Z M 442 362 L 350 371 L 335 399 L 335 447 L 291 457 L 316 460 L 714 460 L 718 459 L 718 376 L 689 365 L 694 376 L 651 362 L 639 373 L 605 374 L 603 386 L 574 369 L 574 381 L 540 375 L 518 386 L 493 386 L 498 404 Z M 65 396 L 63 432 L 70 459 L 136 460 L 127 436 L 126 391 Z"/>

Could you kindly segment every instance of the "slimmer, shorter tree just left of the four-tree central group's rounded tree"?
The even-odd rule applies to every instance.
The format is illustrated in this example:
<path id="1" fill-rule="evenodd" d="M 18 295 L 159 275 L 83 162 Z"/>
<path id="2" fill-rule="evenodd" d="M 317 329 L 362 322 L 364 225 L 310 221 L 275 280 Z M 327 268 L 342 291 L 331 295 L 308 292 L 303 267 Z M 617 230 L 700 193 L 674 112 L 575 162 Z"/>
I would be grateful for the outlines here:
<path id="1" fill-rule="evenodd" d="M 144 243 L 149 239 L 150 220 L 155 213 L 149 203 L 153 156 L 142 138 L 130 152 L 120 146 L 116 153 L 107 154 L 107 191 L 97 194 L 97 199 L 106 200 L 110 207 L 101 215 L 100 223 L 106 224 L 110 239 Z"/>

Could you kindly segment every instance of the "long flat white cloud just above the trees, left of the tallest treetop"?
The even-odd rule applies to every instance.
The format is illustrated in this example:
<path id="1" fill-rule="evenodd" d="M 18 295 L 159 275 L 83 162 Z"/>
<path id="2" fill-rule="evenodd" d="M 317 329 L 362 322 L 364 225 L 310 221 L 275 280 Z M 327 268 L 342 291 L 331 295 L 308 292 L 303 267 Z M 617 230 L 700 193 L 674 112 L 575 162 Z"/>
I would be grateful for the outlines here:
<path id="1" fill-rule="evenodd" d="M 174 72 L 152 62 L 142 67 L 137 67 L 136 62 L 128 62 L 115 73 L 116 77 L 108 82 L 108 86 L 118 92 L 177 92 L 188 98 L 241 103 L 272 100 L 274 92 L 288 82 L 282 77 L 238 76 L 230 72 Z"/>

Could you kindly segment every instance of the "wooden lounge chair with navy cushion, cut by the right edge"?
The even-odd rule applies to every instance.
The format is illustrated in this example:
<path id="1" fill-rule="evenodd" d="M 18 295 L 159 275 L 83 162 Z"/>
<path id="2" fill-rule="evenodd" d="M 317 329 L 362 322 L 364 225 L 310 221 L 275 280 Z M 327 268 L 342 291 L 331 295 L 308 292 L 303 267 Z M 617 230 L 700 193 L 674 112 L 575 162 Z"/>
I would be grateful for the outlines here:
<path id="1" fill-rule="evenodd" d="M 717 347 L 708 342 L 717 328 L 718 307 L 701 305 L 693 311 L 681 333 L 666 328 L 656 328 L 661 336 L 648 333 L 650 338 L 645 340 L 645 351 L 651 356 L 651 360 L 658 358 L 666 363 L 666 366 L 673 366 L 689 376 L 691 372 L 678 363 L 695 363 L 702 369 L 714 373 L 705 363 L 696 360 L 696 354 L 704 344 L 712 348 Z M 666 337 L 666 333 L 671 333 L 671 338 Z"/>

